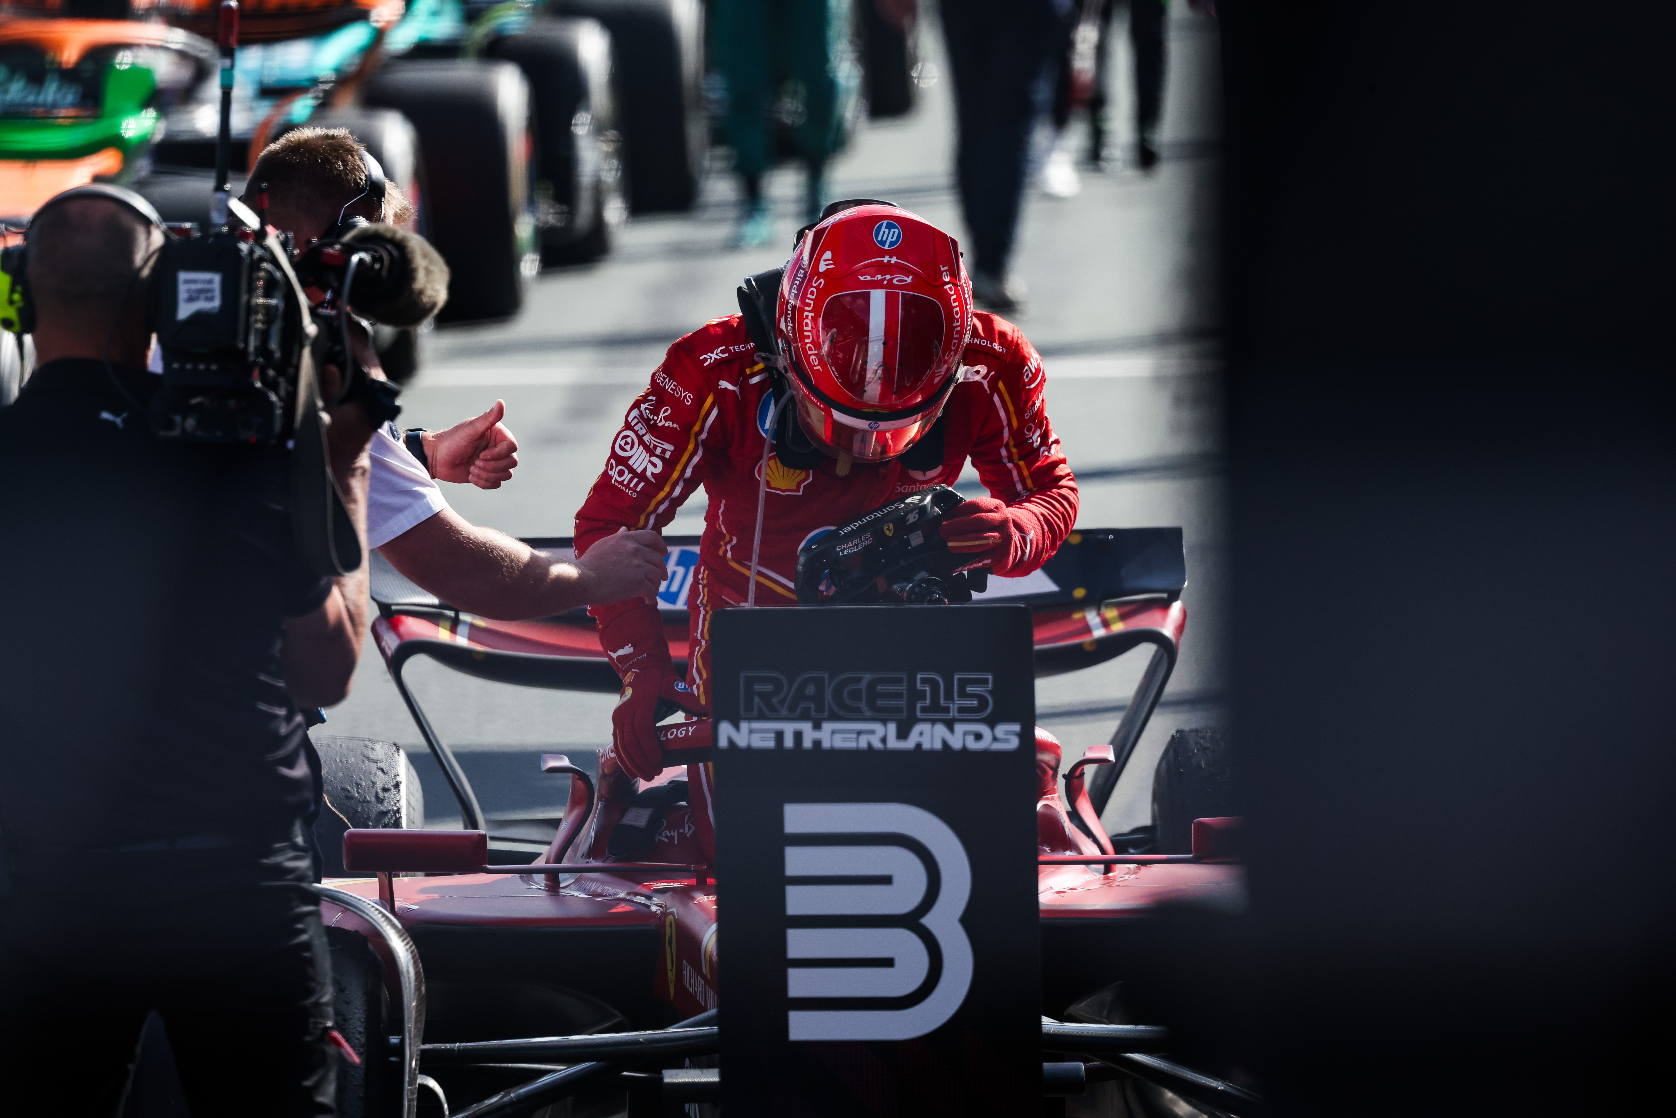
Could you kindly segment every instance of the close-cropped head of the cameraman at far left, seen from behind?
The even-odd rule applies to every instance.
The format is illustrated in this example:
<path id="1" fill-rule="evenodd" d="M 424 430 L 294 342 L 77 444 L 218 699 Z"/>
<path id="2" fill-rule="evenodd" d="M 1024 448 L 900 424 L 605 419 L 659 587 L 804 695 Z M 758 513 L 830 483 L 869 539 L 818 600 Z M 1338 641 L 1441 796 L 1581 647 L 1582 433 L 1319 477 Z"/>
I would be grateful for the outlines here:
<path id="1" fill-rule="evenodd" d="M 144 364 L 146 310 L 163 231 L 119 201 L 72 198 L 28 226 L 28 297 L 35 354 Z"/>

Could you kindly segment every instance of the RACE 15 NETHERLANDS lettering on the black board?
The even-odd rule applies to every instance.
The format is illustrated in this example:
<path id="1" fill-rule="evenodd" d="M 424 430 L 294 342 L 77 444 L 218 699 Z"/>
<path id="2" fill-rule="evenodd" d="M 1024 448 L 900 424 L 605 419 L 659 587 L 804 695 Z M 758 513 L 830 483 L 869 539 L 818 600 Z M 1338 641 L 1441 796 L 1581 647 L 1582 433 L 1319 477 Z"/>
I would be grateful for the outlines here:
<path id="1" fill-rule="evenodd" d="M 989 672 L 741 672 L 741 721 L 717 722 L 716 746 L 1006 753 L 1019 748 L 1019 722 L 979 721 L 994 682 Z"/>

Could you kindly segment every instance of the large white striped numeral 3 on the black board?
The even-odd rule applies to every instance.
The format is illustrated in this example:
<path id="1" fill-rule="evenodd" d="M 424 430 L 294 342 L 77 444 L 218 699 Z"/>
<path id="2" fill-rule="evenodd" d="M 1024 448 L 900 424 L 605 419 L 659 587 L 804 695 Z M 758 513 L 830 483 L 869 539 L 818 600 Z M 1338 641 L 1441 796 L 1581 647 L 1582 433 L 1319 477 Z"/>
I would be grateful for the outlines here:
<path id="1" fill-rule="evenodd" d="M 952 1017 L 972 986 L 972 867 L 949 825 L 907 803 L 788 803 L 784 826 L 791 1039 L 907 1041 Z"/>

